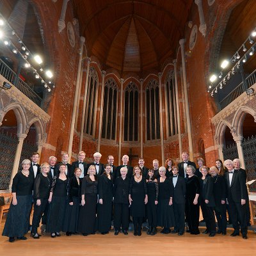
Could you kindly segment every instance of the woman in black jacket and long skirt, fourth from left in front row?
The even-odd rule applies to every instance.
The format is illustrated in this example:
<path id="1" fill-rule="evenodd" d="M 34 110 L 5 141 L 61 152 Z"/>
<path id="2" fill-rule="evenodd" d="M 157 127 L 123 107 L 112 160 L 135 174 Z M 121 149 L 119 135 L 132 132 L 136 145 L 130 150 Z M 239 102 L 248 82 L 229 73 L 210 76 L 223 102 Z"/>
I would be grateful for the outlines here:
<path id="1" fill-rule="evenodd" d="M 78 232 L 78 217 L 81 202 L 81 184 L 82 179 L 81 169 L 76 168 L 74 170 L 74 176 L 68 182 L 68 202 L 65 212 L 63 232 L 66 232 L 67 236 L 76 234 Z"/>

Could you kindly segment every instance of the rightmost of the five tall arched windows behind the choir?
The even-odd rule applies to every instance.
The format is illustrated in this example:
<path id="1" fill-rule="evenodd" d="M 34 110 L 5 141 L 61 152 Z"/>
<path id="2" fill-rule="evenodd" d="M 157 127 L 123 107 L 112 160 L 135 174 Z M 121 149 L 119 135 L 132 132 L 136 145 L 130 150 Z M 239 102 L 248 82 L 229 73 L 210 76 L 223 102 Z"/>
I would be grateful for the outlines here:
<path id="1" fill-rule="evenodd" d="M 168 136 L 177 134 L 177 109 L 174 72 L 171 70 L 165 80 L 166 130 Z"/>

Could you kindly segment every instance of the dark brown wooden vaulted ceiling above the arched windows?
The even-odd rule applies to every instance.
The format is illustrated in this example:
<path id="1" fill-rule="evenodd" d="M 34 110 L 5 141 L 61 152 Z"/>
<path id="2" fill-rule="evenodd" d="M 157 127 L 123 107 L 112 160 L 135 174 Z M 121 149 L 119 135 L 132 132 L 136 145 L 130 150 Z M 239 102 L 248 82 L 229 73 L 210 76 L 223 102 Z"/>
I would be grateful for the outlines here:
<path id="1" fill-rule="evenodd" d="M 193 0 L 74 0 L 89 56 L 122 76 L 161 71 L 175 58 Z"/>

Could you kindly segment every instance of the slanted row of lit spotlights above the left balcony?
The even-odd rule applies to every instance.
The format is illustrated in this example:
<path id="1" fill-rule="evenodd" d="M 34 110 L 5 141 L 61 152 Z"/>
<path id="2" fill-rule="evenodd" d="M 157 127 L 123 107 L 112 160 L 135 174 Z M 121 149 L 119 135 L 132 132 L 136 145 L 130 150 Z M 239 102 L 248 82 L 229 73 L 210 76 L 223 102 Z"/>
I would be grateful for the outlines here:
<path id="1" fill-rule="evenodd" d="M 4 28 L 4 31 L 1 28 Z M 18 47 L 15 44 L 13 44 L 12 40 L 10 39 L 10 36 L 8 36 L 8 33 L 10 35 L 16 37 L 17 43 L 20 44 L 20 50 L 18 49 Z M 51 79 L 53 77 L 51 70 L 44 70 L 44 68 L 41 66 L 41 64 L 43 63 L 42 58 L 38 54 L 33 55 L 29 51 L 28 47 L 26 47 L 24 42 L 22 42 L 19 35 L 15 32 L 15 30 L 12 28 L 12 26 L 10 26 L 10 24 L 7 22 L 7 20 L 4 19 L 3 15 L 1 13 L 0 13 L 0 40 L 3 42 L 4 45 L 6 45 L 6 47 L 8 47 L 10 49 L 10 51 L 13 52 L 13 54 L 20 55 L 20 57 L 24 61 L 24 67 L 31 68 L 35 78 L 40 79 L 41 83 L 44 85 L 45 88 L 47 88 L 48 92 L 51 92 L 51 87 L 49 86 L 49 84 L 52 85 L 52 88 L 55 87 L 54 84 L 52 83 L 51 80 L 49 80 L 47 82 L 46 81 L 47 79 L 44 79 L 42 76 L 40 76 L 40 74 L 38 73 L 36 68 L 34 68 L 33 65 L 31 65 L 31 63 L 28 61 L 29 56 L 30 56 L 30 58 L 33 58 L 33 60 L 35 60 L 36 63 L 39 65 L 39 71 L 40 72 L 45 71 L 45 76 L 48 77 L 49 79 Z"/>

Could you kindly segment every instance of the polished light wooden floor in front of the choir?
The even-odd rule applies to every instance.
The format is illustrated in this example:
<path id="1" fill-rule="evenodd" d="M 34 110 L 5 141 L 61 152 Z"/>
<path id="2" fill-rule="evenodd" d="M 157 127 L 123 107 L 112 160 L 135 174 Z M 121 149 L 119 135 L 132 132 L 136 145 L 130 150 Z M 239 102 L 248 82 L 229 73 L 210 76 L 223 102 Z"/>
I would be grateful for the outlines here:
<path id="1" fill-rule="evenodd" d="M 4 220 L 0 225 L 1 234 L 3 227 Z M 200 231 L 204 229 L 200 228 Z M 9 243 L 8 237 L 0 236 L 0 255 L 255 255 L 255 233 L 249 231 L 247 240 L 242 239 L 241 236 L 230 237 L 231 233 L 232 229 L 228 229 L 227 236 L 209 237 L 204 234 L 163 235 L 159 232 L 156 236 L 147 236 L 143 232 L 141 237 L 135 237 L 132 231 L 128 236 L 122 233 L 114 236 L 112 230 L 108 235 L 95 234 L 87 237 L 81 235 L 67 237 L 62 234 L 61 237 L 56 238 L 45 235 L 40 239 L 33 239 L 27 234 L 28 240 L 14 243 Z"/>

